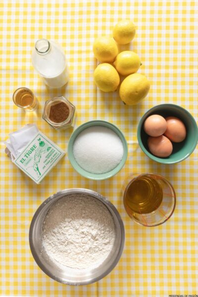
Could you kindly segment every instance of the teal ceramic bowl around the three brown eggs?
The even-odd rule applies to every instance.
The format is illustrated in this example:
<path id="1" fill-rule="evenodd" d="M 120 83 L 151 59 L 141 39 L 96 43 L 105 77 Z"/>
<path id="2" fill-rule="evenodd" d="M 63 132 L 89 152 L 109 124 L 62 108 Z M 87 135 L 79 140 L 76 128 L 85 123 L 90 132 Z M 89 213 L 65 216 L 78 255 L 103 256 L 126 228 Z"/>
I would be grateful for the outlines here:
<path id="1" fill-rule="evenodd" d="M 187 136 L 186 139 L 181 143 L 172 143 L 173 151 L 170 156 L 166 158 L 159 158 L 150 153 L 147 145 L 148 135 L 143 129 L 143 124 L 151 114 L 159 114 L 163 117 L 175 116 L 182 120 L 186 126 Z M 188 158 L 190 154 L 194 151 L 198 143 L 198 126 L 194 117 L 189 111 L 183 107 L 175 104 L 160 104 L 150 108 L 141 118 L 138 125 L 138 142 L 142 150 L 146 155 L 159 163 L 163 164 L 174 164 L 181 162 Z"/>

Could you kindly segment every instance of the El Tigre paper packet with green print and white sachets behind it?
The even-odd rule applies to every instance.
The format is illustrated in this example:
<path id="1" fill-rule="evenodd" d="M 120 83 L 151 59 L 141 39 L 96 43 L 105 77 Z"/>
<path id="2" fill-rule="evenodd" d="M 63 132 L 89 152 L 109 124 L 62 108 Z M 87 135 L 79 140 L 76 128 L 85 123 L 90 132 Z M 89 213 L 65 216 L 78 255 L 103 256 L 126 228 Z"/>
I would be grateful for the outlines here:
<path id="1" fill-rule="evenodd" d="M 40 184 L 65 154 L 35 124 L 9 134 L 5 153 L 35 183 Z"/>

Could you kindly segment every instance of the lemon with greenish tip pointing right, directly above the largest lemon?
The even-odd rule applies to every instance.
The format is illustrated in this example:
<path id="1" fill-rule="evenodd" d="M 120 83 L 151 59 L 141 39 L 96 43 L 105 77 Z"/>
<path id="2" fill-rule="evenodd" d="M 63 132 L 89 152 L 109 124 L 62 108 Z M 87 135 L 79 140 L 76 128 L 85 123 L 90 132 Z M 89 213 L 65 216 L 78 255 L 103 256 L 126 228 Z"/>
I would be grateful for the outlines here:
<path id="1" fill-rule="evenodd" d="M 136 52 L 125 50 L 117 55 L 114 65 L 120 74 L 129 75 L 138 71 L 141 61 Z"/>

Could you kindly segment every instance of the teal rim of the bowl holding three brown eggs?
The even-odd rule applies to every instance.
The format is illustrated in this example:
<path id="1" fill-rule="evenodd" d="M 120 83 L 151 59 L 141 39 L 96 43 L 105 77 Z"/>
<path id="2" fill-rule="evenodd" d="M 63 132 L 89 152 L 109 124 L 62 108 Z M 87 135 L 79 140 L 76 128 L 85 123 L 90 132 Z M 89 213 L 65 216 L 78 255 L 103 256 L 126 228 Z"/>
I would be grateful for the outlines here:
<path id="1" fill-rule="evenodd" d="M 178 160 L 176 161 L 168 161 L 167 159 L 164 159 L 164 158 L 160 158 L 160 157 L 157 157 L 157 156 L 154 156 L 153 154 L 151 154 L 146 148 L 145 146 L 143 145 L 143 142 L 142 142 L 142 138 L 141 138 L 141 130 L 142 130 L 142 125 L 146 119 L 146 116 L 148 114 L 150 114 L 152 111 L 155 110 L 156 107 L 175 107 L 177 109 L 180 109 L 182 111 L 184 111 L 185 113 L 188 114 L 188 116 L 191 118 L 192 122 L 195 124 L 195 127 L 197 126 L 197 134 L 195 135 L 195 142 L 194 142 L 194 145 L 192 146 L 191 150 L 186 154 L 184 155 L 183 157 L 179 158 Z M 196 129 L 196 128 L 195 128 Z M 192 153 L 193 151 L 195 150 L 196 146 L 197 146 L 197 143 L 198 143 L 198 125 L 197 125 L 197 122 L 195 120 L 195 118 L 192 116 L 192 114 L 187 110 L 185 109 L 184 107 L 180 106 L 180 105 L 177 105 L 177 104 L 173 104 L 173 103 L 162 103 L 162 104 L 158 104 L 158 105 L 155 105 L 155 106 L 152 106 L 151 108 L 149 108 L 144 114 L 143 116 L 141 117 L 140 121 L 139 121 L 139 124 L 138 124 L 138 129 L 137 129 L 137 138 L 138 138 L 138 143 L 139 143 L 139 146 L 140 148 L 143 150 L 143 152 L 153 161 L 155 162 L 158 162 L 158 163 L 161 163 L 161 164 L 176 164 L 176 163 L 179 163 L 185 159 L 187 159 Z M 165 161 L 164 161 L 165 160 Z"/>

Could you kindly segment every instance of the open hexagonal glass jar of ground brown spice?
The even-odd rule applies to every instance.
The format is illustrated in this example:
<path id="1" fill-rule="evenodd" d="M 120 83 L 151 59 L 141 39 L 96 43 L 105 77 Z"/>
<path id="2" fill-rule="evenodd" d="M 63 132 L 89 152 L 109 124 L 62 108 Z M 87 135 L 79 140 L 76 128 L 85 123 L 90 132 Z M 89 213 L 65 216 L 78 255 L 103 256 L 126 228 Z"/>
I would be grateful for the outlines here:
<path id="1" fill-rule="evenodd" d="M 74 127 L 75 106 L 63 96 L 46 101 L 43 119 L 54 129 Z"/>

